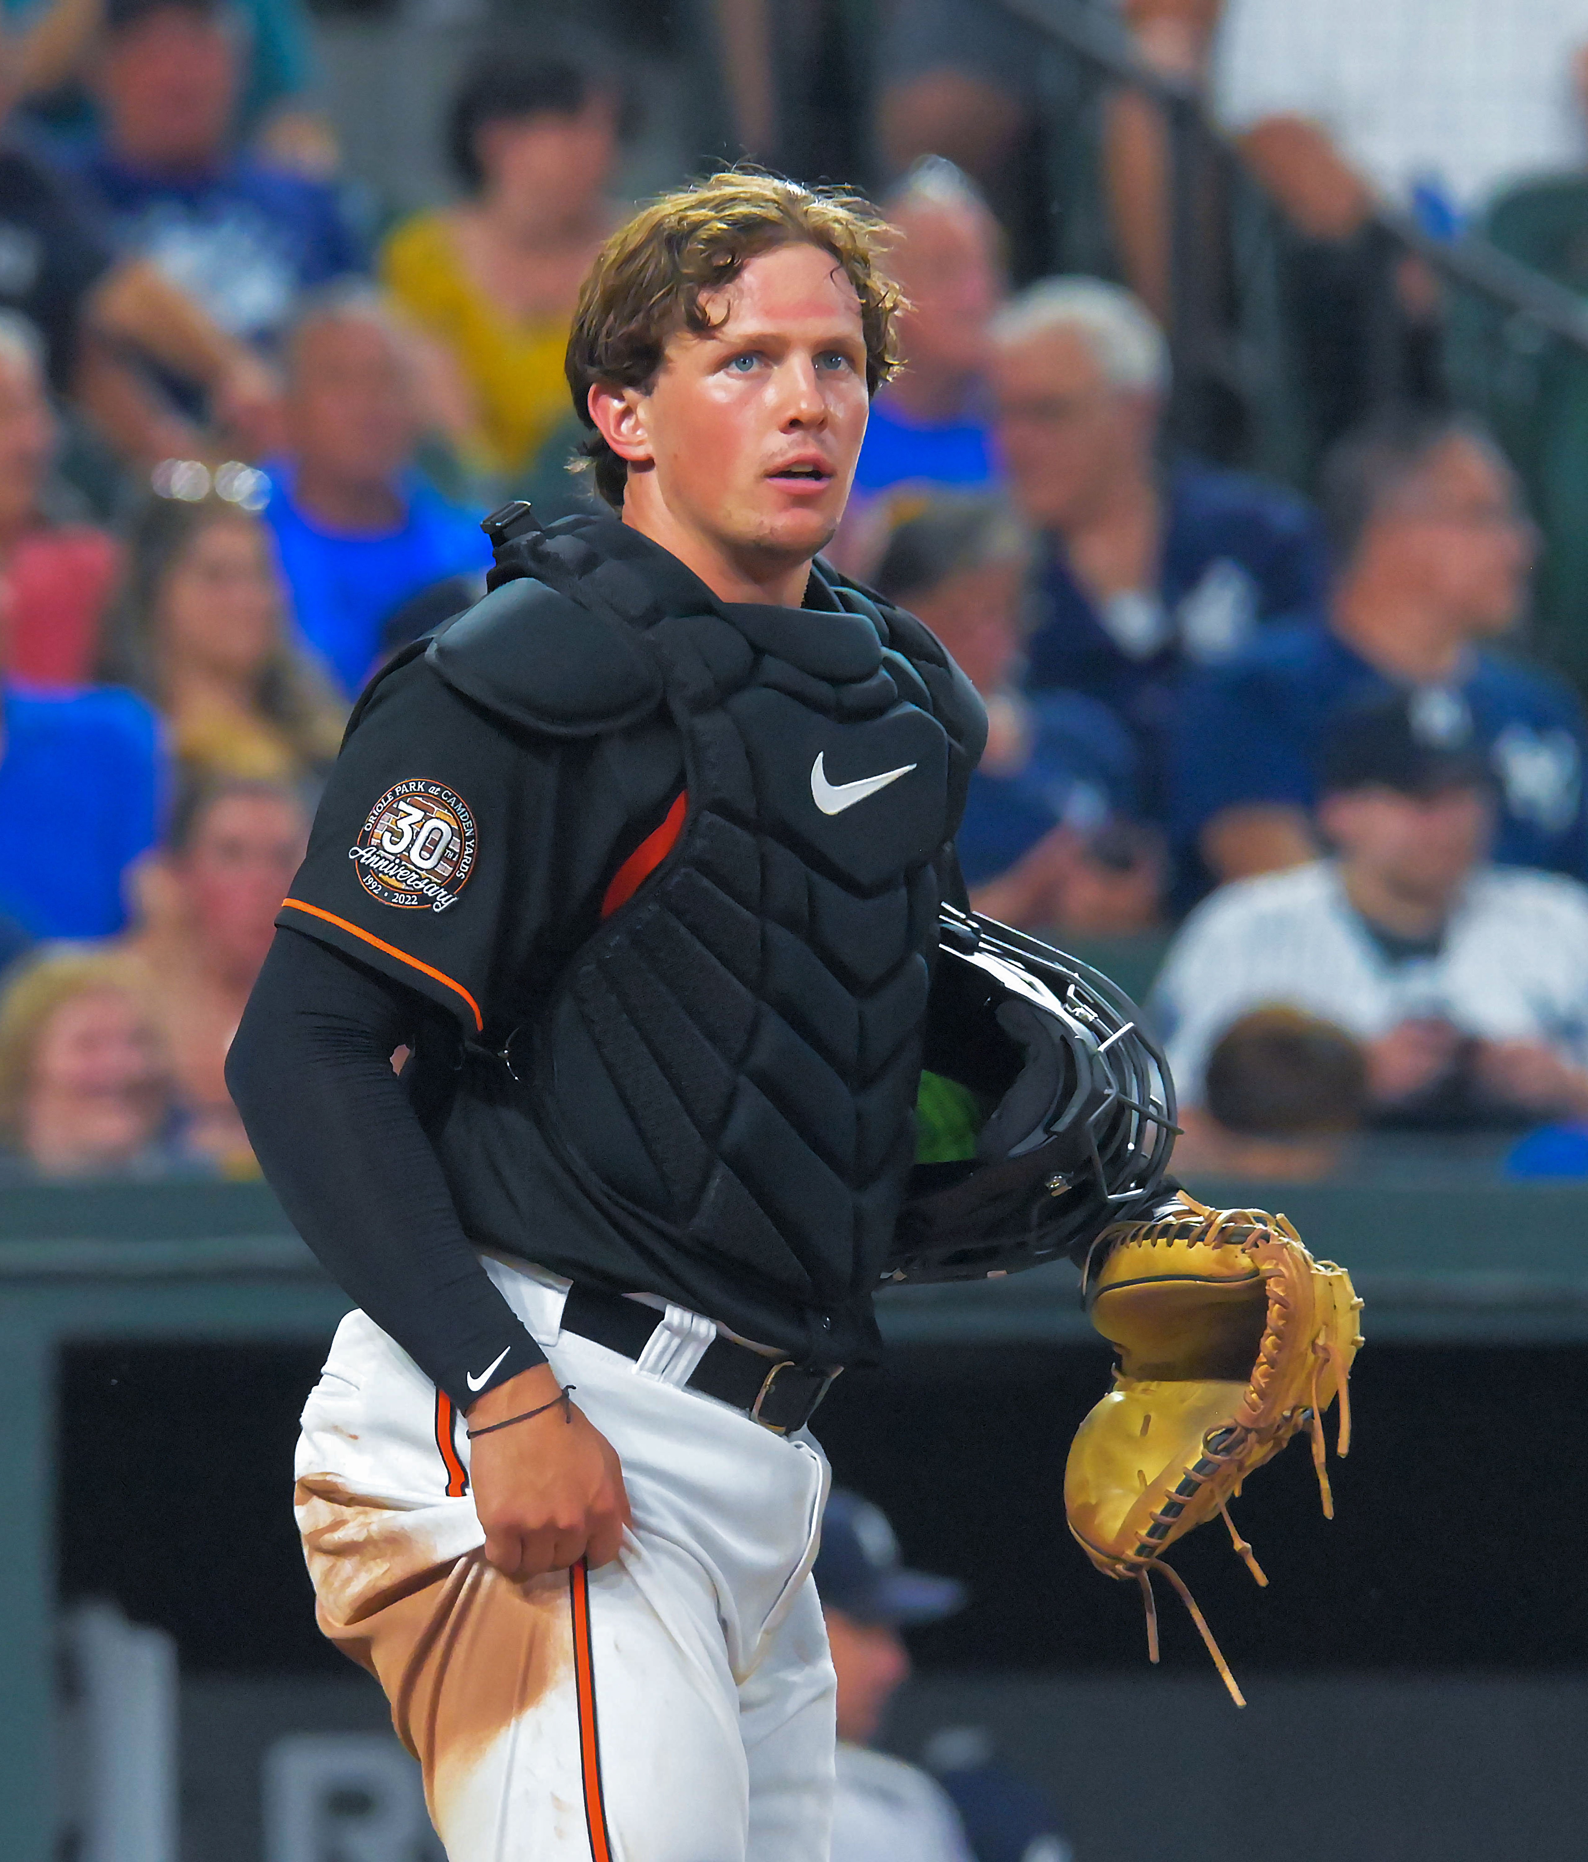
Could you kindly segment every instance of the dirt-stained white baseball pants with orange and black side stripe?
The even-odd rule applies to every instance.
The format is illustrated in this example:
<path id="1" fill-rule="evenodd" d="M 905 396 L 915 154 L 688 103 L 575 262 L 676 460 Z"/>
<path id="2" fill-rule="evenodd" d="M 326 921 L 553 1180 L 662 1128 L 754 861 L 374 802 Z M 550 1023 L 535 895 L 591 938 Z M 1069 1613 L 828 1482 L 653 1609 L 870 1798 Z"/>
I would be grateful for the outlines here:
<path id="1" fill-rule="evenodd" d="M 462 1417 L 363 1313 L 296 1456 L 320 1627 L 385 1689 L 451 1862 L 827 1862 L 821 1449 L 681 1387 L 709 1320 L 668 1307 L 635 1363 L 560 1331 L 564 1283 L 486 1268 L 618 1450 L 614 1564 L 493 1572 Z"/>

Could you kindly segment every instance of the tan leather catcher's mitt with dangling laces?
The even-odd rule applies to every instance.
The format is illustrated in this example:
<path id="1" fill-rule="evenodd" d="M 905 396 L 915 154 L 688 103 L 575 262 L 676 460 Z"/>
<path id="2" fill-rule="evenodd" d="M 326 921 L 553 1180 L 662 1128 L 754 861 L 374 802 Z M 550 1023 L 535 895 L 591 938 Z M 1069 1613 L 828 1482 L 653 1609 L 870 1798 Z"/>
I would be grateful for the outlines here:
<path id="1" fill-rule="evenodd" d="M 1106 1257 L 1104 1257 L 1106 1249 Z M 1065 1469 L 1070 1532 L 1110 1577 L 1134 1577 L 1158 1659 L 1152 1572 L 1191 1612 L 1208 1653 L 1245 1706 L 1203 1614 L 1164 1553 L 1223 1514 L 1258 1585 L 1268 1579 L 1229 1516 L 1242 1482 L 1299 1428 L 1333 1518 L 1324 1410 L 1339 1398 L 1339 1452 L 1350 1447 L 1346 1378 L 1363 1343 L 1352 1277 L 1314 1261 L 1285 1216 L 1204 1208 L 1184 1192 L 1154 1220 L 1117 1223 L 1085 1296 L 1091 1322 L 1119 1348 L 1113 1389 L 1087 1415 Z"/>

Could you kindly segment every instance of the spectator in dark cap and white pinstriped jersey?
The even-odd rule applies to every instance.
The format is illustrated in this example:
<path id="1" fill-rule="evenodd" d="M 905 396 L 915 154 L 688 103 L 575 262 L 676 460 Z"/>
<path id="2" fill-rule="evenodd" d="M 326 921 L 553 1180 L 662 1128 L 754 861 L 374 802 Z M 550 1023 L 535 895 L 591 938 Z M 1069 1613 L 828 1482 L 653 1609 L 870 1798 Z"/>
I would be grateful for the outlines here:
<path id="1" fill-rule="evenodd" d="M 1588 1113 L 1588 888 L 1489 864 L 1491 767 L 1439 724 L 1406 696 L 1340 717 L 1318 780 L 1331 857 L 1225 886 L 1186 922 L 1156 1015 L 1188 1104 L 1206 1102 L 1219 1035 L 1283 1005 L 1365 1043 L 1379 1115 Z"/>

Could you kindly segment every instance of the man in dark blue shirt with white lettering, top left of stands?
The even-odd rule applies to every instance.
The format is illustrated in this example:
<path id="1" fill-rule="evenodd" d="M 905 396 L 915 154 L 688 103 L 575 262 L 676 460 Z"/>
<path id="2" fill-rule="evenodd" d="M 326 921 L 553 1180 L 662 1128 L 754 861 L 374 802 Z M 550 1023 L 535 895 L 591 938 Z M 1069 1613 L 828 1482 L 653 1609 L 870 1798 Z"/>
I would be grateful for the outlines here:
<path id="1" fill-rule="evenodd" d="M 244 47 L 227 0 L 106 0 L 104 127 L 67 160 L 123 251 L 268 348 L 298 296 L 363 251 L 335 188 L 236 151 Z"/>

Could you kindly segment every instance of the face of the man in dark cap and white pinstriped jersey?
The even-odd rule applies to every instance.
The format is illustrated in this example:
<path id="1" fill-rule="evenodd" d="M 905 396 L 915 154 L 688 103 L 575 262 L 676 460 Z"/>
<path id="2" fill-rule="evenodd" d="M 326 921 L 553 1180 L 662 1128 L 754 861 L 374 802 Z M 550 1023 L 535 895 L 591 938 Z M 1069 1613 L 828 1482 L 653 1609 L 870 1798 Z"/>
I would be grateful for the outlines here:
<path id="1" fill-rule="evenodd" d="M 1348 871 L 1359 868 L 1398 897 L 1443 907 L 1487 853 L 1493 804 L 1480 788 L 1435 795 L 1365 788 L 1326 795 L 1318 821 Z"/>

